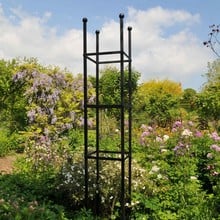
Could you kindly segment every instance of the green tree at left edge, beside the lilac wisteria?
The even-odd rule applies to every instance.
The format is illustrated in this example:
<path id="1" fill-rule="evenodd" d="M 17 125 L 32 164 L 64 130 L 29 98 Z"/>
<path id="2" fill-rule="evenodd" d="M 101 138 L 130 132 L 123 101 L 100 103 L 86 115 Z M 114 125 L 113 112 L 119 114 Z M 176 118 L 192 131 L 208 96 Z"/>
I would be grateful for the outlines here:
<path id="1" fill-rule="evenodd" d="M 18 60 L 0 60 L 0 120 L 10 133 L 26 126 L 23 88 L 12 79 L 17 66 Z"/>

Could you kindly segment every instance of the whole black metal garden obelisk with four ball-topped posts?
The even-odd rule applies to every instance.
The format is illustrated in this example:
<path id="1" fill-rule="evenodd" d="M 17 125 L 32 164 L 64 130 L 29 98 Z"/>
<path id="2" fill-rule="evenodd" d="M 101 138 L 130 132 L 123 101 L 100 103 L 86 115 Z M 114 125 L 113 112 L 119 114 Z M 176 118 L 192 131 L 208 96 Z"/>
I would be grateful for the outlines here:
<path id="1" fill-rule="evenodd" d="M 100 204 L 100 161 L 118 161 L 120 163 L 120 173 L 121 173 L 121 219 L 129 219 L 129 209 L 126 203 L 131 203 L 131 168 L 132 168 L 132 86 L 131 86 L 131 27 L 128 27 L 128 54 L 124 51 L 124 15 L 119 15 L 120 19 L 120 50 L 118 51 L 99 51 L 99 31 L 96 31 L 96 51 L 94 53 L 87 52 L 87 18 L 83 18 L 83 77 L 84 77 L 84 166 L 85 166 L 85 202 L 88 207 L 88 193 L 89 193 L 89 160 L 95 160 L 96 162 L 96 214 L 100 214 L 99 204 Z M 117 55 L 118 59 L 114 60 L 100 60 L 100 56 L 106 55 Z M 88 76 L 87 76 L 87 60 L 91 61 L 96 65 L 96 101 L 95 104 L 88 103 Z M 119 63 L 120 65 L 120 103 L 113 105 L 101 104 L 99 100 L 100 90 L 99 90 L 99 72 L 100 65 L 109 63 Z M 125 66 L 128 64 L 128 87 L 125 94 Z M 125 103 L 125 95 L 128 96 L 128 103 Z M 96 146 L 95 151 L 89 152 L 89 141 L 88 141 L 88 109 L 95 109 L 96 115 Z M 120 149 L 116 150 L 103 150 L 100 149 L 100 128 L 101 128 L 101 111 L 104 109 L 119 109 L 120 110 Z M 125 149 L 125 113 L 128 112 L 128 149 Z M 126 160 L 128 160 L 128 190 L 126 190 Z M 128 191 L 128 192 L 127 192 Z"/>

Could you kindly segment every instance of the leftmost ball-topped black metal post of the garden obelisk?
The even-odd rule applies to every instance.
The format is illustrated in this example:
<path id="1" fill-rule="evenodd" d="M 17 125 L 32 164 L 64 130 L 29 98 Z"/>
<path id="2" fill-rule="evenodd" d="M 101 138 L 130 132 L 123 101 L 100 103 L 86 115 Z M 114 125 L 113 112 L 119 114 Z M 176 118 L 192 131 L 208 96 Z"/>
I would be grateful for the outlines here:
<path id="1" fill-rule="evenodd" d="M 87 18 L 83 18 L 83 83 L 84 83 L 84 166 L 85 166 L 85 204 L 88 207 L 88 92 L 87 92 Z"/>

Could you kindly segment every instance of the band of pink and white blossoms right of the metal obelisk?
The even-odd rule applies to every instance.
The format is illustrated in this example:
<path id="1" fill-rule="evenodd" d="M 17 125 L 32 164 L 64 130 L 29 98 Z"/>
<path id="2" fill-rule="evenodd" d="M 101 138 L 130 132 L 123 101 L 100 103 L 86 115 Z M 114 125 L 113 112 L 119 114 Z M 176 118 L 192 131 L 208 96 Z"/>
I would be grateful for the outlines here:
<path id="1" fill-rule="evenodd" d="M 152 128 L 143 124 L 140 127 L 140 131 L 140 144 L 148 147 L 149 152 L 154 148 L 155 151 L 159 150 L 161 154 L 173 154 L 176 157 L 189 156 L 191 159 L 196 156 L 203 158 L 203 154 L 205 154 L 207 167 L 204 167 L 204 169 L 209 170 L 211 176 L 218 176 L 220 174 L 220 167 L 217 162 L 217 158 L 220 156 L 220 136 L 218 132 L 200 131 L 192 121 L 176 121 L 171 131 Z M 198 147 L 197 143 L 201 143 L 199 145 L 201 150 L 195 149 L 195 146 Z M 158 178 L 162 177 L 160 165 L 157 163 L 152 163 L 149 173 L 157 174 Z"/>

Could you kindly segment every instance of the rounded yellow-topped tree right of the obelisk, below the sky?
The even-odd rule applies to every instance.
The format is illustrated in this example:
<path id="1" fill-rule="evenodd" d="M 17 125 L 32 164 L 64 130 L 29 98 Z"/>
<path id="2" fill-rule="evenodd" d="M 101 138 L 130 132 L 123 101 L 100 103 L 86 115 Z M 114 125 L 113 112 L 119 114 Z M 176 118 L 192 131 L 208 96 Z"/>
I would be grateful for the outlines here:
<path id="1" fill-rule="evenodd" d="M 150 80 L 139 86 L 135 96 L 134 114 L 140 123 L 166 127 L 181 117 L 179 101 L 181 84 L 170 80 Z M 140 117 L 141 116 L 141 117 Z"/>

